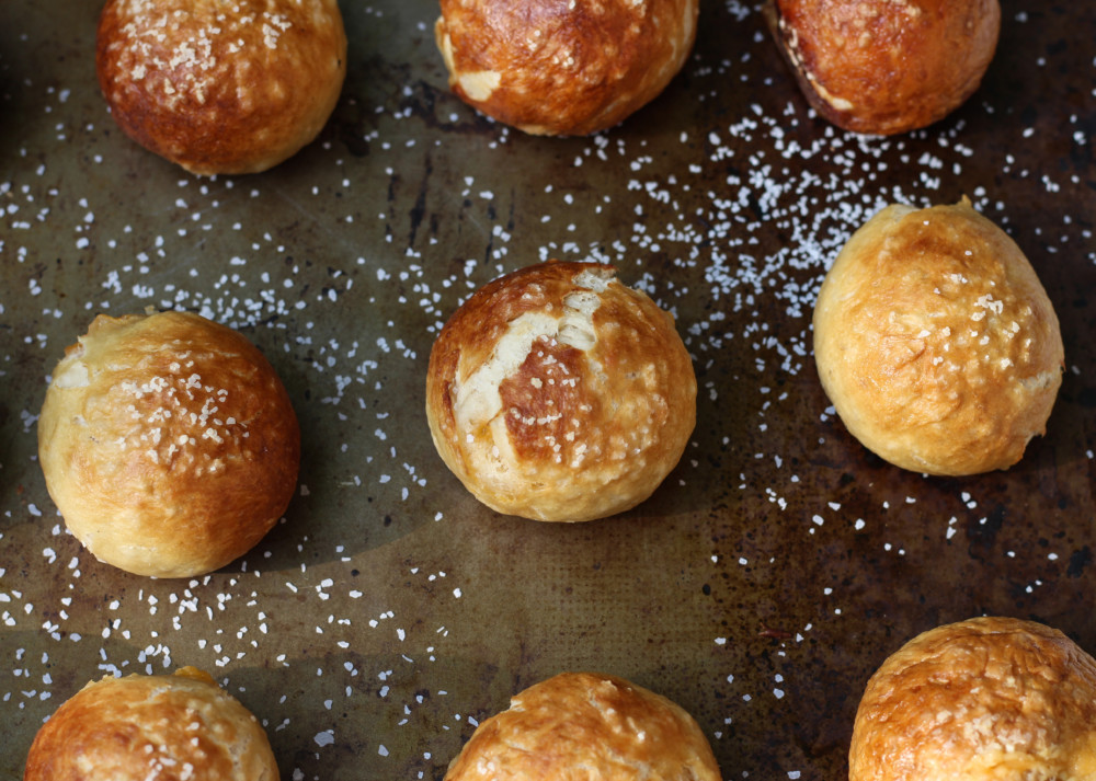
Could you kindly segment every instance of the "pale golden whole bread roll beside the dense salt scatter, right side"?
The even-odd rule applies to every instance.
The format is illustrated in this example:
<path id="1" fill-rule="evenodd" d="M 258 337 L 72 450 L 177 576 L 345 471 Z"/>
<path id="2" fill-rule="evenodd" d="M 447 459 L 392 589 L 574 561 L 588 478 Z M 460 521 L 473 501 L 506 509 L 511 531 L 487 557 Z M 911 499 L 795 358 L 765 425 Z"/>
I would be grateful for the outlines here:
<path id="1" fill-rule="evenodd" d="M 941 475 L 1016 463 L 1064 364 L 1035 269 L 966 198 L 888 206 L 853 234 L 819 291 L 814 357 L 853 436 Z"/>

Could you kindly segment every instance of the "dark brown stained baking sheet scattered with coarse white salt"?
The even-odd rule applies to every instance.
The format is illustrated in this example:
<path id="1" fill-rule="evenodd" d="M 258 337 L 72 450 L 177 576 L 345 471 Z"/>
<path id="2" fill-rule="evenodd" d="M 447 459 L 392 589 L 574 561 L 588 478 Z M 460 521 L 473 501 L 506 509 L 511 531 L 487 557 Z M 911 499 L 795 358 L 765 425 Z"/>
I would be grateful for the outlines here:
<path id="1" fill-rule="evenodd" d="M 96 3 L 0 10 L 0 779 L 89 679 L 196 665 L 263 720 L 287 780 L 441 779 L 477 722 L 564 669 L 676 700 L 727 779 L 833 780 L 865 681 L 920 631 L 1009 615 L 1096 652 L 1096 7 L 1006 0 L 973 99 L 870 139 L 814 118 L 757 8 L 706 2 L 654 104 L 545 139 L 448 93 L 434 3 L 342 5 L 320 140 L 213 181 L 114 127 Z M 1031 260 L 1068 371 L 1018 466 L 928 479 L 827 411 L 810 315 L 877 208 L 962 194 Z M 672 308 L 700 387 L 666 483 L 581 526 L 479 506 L 422 411 L 448 313 L 546 257 L 612 261 Z M 65 346 L 149 306 L 251 337 L 304 429 L 284 522 L 193 582 L 98 563 L 35 460 Z"/>

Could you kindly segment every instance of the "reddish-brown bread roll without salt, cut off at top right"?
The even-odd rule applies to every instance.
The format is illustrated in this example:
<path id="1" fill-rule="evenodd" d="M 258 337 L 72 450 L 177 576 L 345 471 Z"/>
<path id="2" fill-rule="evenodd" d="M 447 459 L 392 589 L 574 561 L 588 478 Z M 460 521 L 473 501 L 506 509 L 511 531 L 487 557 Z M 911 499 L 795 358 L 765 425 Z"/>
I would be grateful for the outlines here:
<path id="1" fill-rule="evenodd" d="M 815 111 L 882 136 L 958 108 L 1001 30 L 997 0 L 767 0 L 765 15 Z"/>

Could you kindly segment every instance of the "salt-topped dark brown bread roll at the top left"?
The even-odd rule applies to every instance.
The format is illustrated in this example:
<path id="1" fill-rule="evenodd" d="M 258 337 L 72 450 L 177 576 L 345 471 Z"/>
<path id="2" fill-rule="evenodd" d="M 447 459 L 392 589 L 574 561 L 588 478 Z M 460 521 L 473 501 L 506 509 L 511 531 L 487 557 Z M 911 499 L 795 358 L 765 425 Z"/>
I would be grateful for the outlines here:
<path id="1" fill-rule="evenodd" d="M 142 147 L 196 174 L 254 173 L 327 123 L 346 34 L 335 0 L 107 0 L 95 66 Z"/>

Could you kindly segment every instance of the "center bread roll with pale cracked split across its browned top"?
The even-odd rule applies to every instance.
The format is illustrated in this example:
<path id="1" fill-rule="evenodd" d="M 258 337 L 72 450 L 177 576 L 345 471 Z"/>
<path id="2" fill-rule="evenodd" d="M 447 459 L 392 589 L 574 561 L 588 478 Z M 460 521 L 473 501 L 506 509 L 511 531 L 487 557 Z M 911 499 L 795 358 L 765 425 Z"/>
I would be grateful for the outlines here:
<path id="1" fill-rule="evenodd" d="M 426 417 L 489 507 L 592 520 L 639 504 L 677 464 L 696 380 L 673 318 L 612 266 L 549 262 L 453 314 L 430 354 Z"/>

